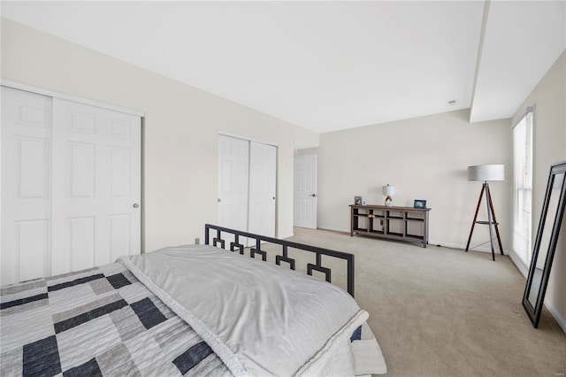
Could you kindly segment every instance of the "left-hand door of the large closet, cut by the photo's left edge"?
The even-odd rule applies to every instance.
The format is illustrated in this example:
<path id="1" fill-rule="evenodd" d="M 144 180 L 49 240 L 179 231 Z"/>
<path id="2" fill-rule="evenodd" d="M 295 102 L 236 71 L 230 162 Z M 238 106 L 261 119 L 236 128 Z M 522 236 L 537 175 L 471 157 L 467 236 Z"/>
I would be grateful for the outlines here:
<path id="1" fill-rule="evenodd" d="M 51 98 L 2 87 L 2 284 L 49 276 Z"/>

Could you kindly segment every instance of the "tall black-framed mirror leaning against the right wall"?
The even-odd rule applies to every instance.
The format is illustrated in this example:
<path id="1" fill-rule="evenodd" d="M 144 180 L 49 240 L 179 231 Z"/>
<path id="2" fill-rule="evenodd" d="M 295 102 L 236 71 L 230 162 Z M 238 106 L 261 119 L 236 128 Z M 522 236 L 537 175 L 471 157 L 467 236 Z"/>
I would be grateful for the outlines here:
<path id="1" fill-rule="evenodd" d="M 539 230 L 532 252 L 531 267 L 524 288 L 523 307 L 533 327 L 539 327 L 540 312 L 547 291 L 548 276 L 555 258 L 556 242 L 566 204 L 566 162 L 550 167 Z M 564 250 L 562 250 L 564 251 Z"/>

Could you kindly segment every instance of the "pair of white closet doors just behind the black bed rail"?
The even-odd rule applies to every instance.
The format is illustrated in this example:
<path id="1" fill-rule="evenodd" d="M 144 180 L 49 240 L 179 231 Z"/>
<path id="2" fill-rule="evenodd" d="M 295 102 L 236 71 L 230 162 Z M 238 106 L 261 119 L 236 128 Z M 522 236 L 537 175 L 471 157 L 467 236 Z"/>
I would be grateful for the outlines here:
<path id="1" fill-rule="evenodd" d="M 277 148 L 218 135 L 218 225 L 275 236 Z"/>

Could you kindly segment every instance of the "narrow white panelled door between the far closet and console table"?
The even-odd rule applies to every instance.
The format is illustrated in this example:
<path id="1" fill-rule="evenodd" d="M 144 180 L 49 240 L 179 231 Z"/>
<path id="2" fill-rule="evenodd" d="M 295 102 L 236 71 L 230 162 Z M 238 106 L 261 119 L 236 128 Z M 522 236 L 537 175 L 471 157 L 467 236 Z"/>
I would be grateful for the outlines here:
<path id="1" fill-rule="evenodd" d="M 293 224 L 317 228 L 317 155 L 294 157 Z"/>

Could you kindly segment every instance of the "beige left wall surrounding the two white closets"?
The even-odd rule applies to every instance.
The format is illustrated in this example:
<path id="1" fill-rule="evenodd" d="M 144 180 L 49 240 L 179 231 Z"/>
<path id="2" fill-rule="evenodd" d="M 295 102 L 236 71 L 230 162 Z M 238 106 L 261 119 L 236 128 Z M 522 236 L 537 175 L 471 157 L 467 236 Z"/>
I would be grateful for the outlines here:
<path id="1" fill-rule="evenodd" d="M 278 235 L 292 235 L 294 143 L 317 134 L 8 19 L 2 78 L 145 112 L 146 250 L 217 221 L 218 132 L 279 146 Z"/>

